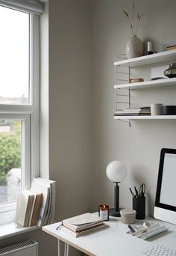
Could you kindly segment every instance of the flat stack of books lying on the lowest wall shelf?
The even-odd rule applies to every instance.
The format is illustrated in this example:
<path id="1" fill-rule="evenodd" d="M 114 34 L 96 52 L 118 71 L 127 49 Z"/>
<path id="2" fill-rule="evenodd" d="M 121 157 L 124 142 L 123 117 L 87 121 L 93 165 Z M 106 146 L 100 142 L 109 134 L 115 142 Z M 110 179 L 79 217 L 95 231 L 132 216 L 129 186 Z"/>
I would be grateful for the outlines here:
<path id="1" fill-rule="evenodd" d="M 114 116 L 128 116 L 128 115 L 151 115 L 150 107 L 119 109 Z"/>

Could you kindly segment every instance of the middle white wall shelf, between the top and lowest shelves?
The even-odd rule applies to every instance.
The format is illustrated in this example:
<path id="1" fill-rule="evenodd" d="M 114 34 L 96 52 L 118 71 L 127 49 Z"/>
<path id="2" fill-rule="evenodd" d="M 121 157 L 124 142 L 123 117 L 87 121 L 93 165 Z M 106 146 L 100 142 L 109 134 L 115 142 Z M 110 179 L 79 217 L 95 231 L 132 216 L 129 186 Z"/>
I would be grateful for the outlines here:
<path id="1" fill-rule="evenodd" d="M 131 84 L 114 85 L 114 88 L 115 89 L 120 89 L 120 88 L 139 89 L 139 88 L 159 87 L 159 86 L 165 86 L 165 85 L 176 85 L 176 77 L 172 79 L 158 79 L 154 81 L 133 82 Z"/>

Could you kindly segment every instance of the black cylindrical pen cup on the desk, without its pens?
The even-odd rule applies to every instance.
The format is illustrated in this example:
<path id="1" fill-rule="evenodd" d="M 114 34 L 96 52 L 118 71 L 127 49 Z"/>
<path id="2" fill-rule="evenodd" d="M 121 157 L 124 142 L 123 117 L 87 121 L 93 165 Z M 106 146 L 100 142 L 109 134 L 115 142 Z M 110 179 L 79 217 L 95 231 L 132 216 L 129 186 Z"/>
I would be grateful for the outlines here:
<path id="1" fill-rule="evenodd" d="M 136 219 L 145 219 L 145 196 L 133 197 L 133 210 L 136 210 Z"/>

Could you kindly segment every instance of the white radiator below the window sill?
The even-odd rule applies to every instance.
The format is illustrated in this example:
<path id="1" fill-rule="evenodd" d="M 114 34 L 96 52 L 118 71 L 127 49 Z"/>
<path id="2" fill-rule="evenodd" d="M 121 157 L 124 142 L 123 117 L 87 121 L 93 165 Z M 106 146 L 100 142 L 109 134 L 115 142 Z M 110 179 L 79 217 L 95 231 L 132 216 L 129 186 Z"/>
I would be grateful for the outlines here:
<path id="1" fill-rule="evenodd" d="M 34 240 L 17 243 L 0 249 L 0 255 L 8 256 L 38 256 L 38 243 Z"/>

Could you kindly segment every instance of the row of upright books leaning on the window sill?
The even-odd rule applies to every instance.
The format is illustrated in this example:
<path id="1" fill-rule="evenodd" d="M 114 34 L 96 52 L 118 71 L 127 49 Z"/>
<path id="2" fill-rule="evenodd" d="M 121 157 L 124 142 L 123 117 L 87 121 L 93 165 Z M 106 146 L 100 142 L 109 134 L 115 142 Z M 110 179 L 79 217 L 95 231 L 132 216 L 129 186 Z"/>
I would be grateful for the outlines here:
<path id="1" fill-rule="evenodd" d="M 30 190 L 19 192 L 16 224 L 43 226 L 54 222 L 55 181 L 35 178 Z"/>

